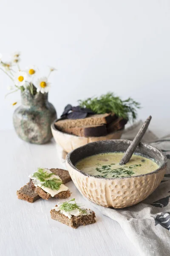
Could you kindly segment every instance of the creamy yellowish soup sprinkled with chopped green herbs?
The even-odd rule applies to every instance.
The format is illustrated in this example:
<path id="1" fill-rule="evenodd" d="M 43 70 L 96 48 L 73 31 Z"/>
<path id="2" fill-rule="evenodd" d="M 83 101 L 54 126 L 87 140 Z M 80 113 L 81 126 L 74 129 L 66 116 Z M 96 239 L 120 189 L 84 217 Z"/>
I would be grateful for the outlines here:
<path id="1" fill-rule="evenodd" d="M 159 166 L 152 160 L 133 154 L 125 165 L 119 165 L 124 153 L 103 153 L 86 157 L 76 164 L 76 168 L 96 177 L 118 178 L 153 172 Z"/>

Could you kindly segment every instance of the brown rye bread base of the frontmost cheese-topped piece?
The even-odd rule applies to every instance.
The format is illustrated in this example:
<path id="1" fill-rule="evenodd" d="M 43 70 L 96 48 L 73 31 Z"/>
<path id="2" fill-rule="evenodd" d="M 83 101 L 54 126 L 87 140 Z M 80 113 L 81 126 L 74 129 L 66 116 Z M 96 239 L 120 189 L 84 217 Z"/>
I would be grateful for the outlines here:
<path id="1" fill-rule="evenodd" d="M 90 214 L 79 215 L 79 216 L 72 215 L 71 219 L 69 219 L 67 216 L 62 214 L 60 211 L 56 211 L 55 209 L 51 209 L 50 214 L 52 219 L 73 228 L 77 228 L 81 225 L 85 226 L 88 224 L 93 224 L 96 222 L 95 213 L 91 210 L 90 210 Z"/>

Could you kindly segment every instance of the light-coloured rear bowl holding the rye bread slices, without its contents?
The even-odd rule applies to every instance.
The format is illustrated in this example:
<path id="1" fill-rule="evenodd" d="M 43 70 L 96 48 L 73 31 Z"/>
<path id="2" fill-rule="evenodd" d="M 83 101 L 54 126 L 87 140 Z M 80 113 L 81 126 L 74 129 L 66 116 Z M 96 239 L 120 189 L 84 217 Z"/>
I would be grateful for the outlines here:
<path id="1" fill-rule="evenodd" d="M 63 148 L 67 153 L 78 148 L 80 146 L 86 145 L 90 142 L 95 142 L 98 140 L 113 140 L 120 139 L 123 133 L 123 129 L 107 134 L 106 136 L 101 137 L 79 137 L 73 134 L 67 134 L 65 132 L 59 131 L 55 127 L 55 120 L 51 125 L 51 131 L 54 137 L 54 140 Z"/>

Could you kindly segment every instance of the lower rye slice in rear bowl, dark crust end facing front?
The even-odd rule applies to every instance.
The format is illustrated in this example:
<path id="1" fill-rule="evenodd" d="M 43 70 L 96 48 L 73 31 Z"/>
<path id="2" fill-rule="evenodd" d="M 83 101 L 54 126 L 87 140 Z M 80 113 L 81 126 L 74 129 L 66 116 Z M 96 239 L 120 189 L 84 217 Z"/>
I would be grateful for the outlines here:
<path id="1" fill-rule="evenodd" d="M 87 125 L 83 127 L 65 128 L 65 132 L 79 137 L 99 137 L 105 136 L 108 133 L 106 125 Z"/>

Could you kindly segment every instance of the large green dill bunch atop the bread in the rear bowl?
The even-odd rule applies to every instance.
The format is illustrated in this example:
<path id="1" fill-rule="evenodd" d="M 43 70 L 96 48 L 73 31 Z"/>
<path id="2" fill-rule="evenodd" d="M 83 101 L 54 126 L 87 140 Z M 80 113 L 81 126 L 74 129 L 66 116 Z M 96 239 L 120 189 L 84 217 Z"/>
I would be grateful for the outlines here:
<path id="1" fill-rule="evenodd" d="M 119 117 L 132 119 L 133 121 L 137 118 L 137 109 L 141 108 L 140 103 L 132 98 L 122 100 L 111 92 L 78 102 L 80 107 L 90 108 L 96 114 L 115 113 Z"/>

